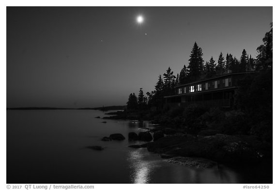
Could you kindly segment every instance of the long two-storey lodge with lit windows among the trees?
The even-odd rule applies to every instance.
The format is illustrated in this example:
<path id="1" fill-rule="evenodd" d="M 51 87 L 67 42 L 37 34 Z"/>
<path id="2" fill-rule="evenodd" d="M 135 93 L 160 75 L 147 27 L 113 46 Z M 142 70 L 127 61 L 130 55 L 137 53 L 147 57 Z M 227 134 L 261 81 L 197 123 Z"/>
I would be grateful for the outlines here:
<path id="1" fill-rule="evenodd" d="M 165 103 L 170 106 L 200 104 L 204 107 L 230 108 L 233 105 L 237 81 L 257 72 L 227 73 L 175 87 L 175 95 L 165 96 Z"/>

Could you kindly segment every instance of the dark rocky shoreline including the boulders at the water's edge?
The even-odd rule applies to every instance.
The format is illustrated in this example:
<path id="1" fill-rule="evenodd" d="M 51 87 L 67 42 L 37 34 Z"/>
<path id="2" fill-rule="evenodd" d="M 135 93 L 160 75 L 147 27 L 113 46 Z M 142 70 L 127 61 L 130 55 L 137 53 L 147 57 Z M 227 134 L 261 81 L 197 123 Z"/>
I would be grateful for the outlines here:
<path id="1" fill-rule="evenodd" d="M 252 166 L 272 161 L 272 144 L 251 135 L 227 135 L 217 130 L 203 130 L 198 135 L 187 134 L 182 129 L 157 126 L 149 131 L 130 132 L 128 140 L 145 142 L 131 148 L 147 148 L 162 159 L 196 168 L 211 168 L 218 163 Z M 103 141 L 124 140 L 122 134 L 111 134 Z"/>

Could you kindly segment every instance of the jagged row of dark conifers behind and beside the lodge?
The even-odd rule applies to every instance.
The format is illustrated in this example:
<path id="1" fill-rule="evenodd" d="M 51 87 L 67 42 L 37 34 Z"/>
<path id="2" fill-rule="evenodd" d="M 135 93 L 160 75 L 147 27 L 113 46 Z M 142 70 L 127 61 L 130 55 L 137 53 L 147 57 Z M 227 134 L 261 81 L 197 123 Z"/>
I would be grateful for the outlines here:
<path id="1" fill-rule="evenodd" d="M 181 84 L 186 84 L 198 80 L 203 80 L 225 73 L 238 73 L 248 71 L 266 72 L 272 71 L 272 57 L 273 57 L 273 24 L 270 24 L 270 31 L 265 33 L 263 38 L 263 44 L 257 48 L 257 57 L 252 58 L 248 56 L 245 49 L 242 51 L 242 55 L 239 59 L 235 58 L 232 54 L 227 53 L 226 58 L 223 53 L 220 52 L 218 60 L 214 60 L 213 57 L 209 61 L 202 58 L 202 48 L 195 42 L 188 66 L 184 65 L 180 73 L 173 74 L 169 67 L 166 73 L 158 76 L 158 81 L 155 85 L 155 89 L 151 92 L 147 92 L 144 96 L 142 88 L 140 88 L 138 97 L 135 93 L 131 93 L 127 102 L 127 109 L 144 109 L 155 106 L 157 108 L 162 107 L 164 96 L 174 94 L 174 87 Z"/>

